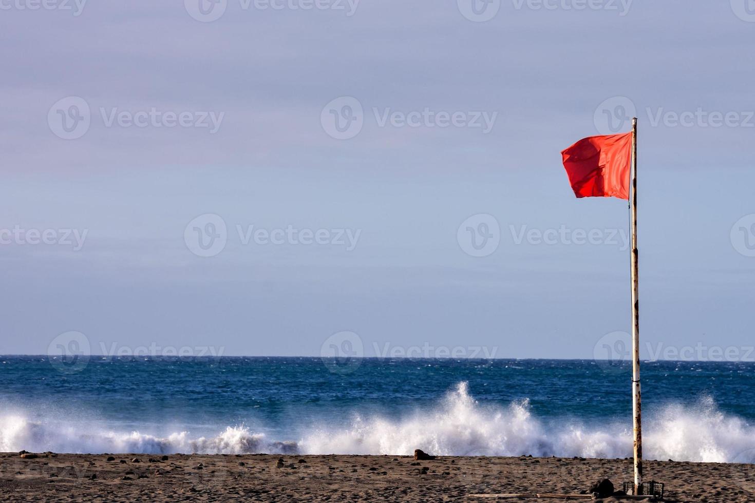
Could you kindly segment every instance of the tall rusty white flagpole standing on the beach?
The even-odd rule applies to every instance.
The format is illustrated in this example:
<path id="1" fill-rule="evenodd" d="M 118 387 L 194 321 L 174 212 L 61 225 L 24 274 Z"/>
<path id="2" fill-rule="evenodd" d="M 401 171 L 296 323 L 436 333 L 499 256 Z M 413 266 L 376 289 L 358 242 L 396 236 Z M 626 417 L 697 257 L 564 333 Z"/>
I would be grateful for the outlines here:
<path id="1" fill-rule="evenodd" d="M 632 197 L 630 198 L 631 277 L 632 277 L 632 415 L 634 443 L 634 494 L 642 494 L 643 488 L 643 427 L 642 406 L 639 388 L 639 285 L 637 268 L 637 118 L 632 119 Z"/>

